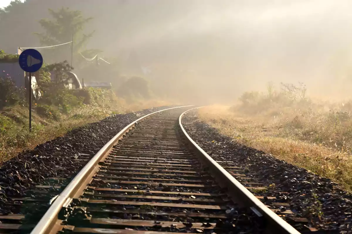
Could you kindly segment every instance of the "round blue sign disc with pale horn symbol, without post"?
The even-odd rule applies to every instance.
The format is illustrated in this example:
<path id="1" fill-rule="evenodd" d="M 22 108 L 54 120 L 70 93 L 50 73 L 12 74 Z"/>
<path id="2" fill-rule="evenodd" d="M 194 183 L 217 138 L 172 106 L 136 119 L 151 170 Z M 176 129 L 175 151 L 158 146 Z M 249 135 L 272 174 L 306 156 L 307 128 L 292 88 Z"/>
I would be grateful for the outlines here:
<path id="1" fill-rule="evenodd" d="M 26 49 L 20 54 L 19 65 L 25 72 L 36 72 L 43 65 L 43 57 L 36 49 Z"/>

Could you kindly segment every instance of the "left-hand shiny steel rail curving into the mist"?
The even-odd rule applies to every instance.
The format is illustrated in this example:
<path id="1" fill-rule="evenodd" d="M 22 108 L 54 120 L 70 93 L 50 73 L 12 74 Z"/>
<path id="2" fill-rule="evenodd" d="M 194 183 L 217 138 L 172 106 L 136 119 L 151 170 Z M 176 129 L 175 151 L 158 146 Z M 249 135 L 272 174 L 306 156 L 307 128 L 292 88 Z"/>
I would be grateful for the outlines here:
<path id="1" fill-rule="evenodd" d="M 116 134 L 106 145 L 104 145 L 98 153 L 94 155 L 94 157 L 82 168 L 82 170 L 74 177 L 74 179 L 65 187 L 60 195 L 58 195 L 50 208 L 45 212 L 44 216 L 37 225 L 33 228 L 31 234 L 44 234 L 48 233 L 51 228 L 55 225 L 57 221 L 58 214 L 61 208 L 70 203 L 72 198 L 71 196 L 76 192 L 78 188 L 81 186 L 81 182 L 86 179 L 86 176 L 92 171 L 95 165 L 98 164 L 102 156 L 112 148 L 113 145 L 126 133 L 130 130 L 137 122 L 160 112 L 168 111 L 171 109 L 182 108 L 182 107 L 191 107 L 191 106 L 180 106 L 180 107 L 173 107 L 164 109 L 161 111 L 156 111 L 150 114 L 147 114 L 138 120 L 133 121 L 129 125 L 127 125 L 124 129 L 122 129 L 118 134 Z"/>

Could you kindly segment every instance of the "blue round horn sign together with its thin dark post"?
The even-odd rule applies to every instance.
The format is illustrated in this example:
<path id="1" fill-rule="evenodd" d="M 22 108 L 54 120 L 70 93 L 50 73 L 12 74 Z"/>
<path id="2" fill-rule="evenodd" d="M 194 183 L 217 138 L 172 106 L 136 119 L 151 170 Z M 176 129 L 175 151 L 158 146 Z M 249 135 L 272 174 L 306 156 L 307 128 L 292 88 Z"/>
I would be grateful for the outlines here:
<path id="1" fill-rule="evenodd" d="M 29 132 L 32 132 L 32 72 L 38 71 L 43 65 L 43 56 L 35 49 L 26 49 L 18 59 L 23 71 L 29 73 Z"/>

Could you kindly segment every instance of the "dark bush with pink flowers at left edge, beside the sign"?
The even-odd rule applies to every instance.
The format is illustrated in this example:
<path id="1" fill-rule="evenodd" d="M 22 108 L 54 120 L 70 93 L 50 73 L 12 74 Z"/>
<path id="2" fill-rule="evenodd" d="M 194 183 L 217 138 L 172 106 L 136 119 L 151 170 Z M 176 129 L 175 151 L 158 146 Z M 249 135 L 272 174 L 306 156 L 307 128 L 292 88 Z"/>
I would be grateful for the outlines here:
<path id="1" fill-rule="evenodd" d="M 15 86 L 11 78 L 0 77 L 0 110 L 6 106 L 25 103 L 25 90 Z"/>

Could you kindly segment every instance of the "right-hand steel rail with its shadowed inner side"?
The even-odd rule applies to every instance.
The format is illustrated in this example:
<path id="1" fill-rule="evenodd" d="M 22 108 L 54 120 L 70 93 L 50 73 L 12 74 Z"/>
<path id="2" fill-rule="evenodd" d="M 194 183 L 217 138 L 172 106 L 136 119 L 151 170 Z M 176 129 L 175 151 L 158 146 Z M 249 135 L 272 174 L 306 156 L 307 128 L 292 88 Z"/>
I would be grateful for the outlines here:
<path id="1" fill-rule="evenodd" d="M 224 168 L 222 168 L 219 163 L 215 162 L 201 147 L 194 142 L 185 129 L 182 126 L 182 117 L 190 111 L 195 109 L 202 108 L 197 107 L 189 109 L 188 111 L 183 112 L 178 119 L 179 125 L 181 127 L 182 133 L 184 134 L 186 140 L 189 142 L 190 146 L 195 150 L 197 155 L 199 155 L 200 160 L 209 167 L 209 172 L 218 180 L 219 184 L 227 187 L 230 192 L 228 195 L 239 205 L 241 203 L 250 207 L 253 212 L 257 215 L 263 215 L 264 218 L 268 221 L 266 225 L 267 231 L 269 233 L 280 233 L 280 234 L 300 234 L 294 227 L 289 225 L 285 220 L 280 218 L 272 210 L 264 205 L 259 199 L 257 199 L 248 189 L 246 189 L 240 182 L 238 182 L 233 176 L 228 173 Z M 260 214 L 258 214 L 258 212 Z"/>

